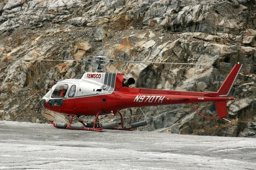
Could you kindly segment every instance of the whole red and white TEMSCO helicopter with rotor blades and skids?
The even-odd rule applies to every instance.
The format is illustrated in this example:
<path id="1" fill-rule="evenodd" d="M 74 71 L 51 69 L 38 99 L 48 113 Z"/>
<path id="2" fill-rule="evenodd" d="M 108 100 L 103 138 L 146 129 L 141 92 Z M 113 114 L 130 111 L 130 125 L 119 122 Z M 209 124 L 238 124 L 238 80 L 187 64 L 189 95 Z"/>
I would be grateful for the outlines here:
<path id="1" fill-rule="evenodd" d="M 120 112 L 126 108 L 141 108 L 148 106 L 159 105 L 174 105 L 201 102 L 214 102 L 218 117 L 207 117 L 210 119 L 225 119 L 227 116 L 227 101 L 234 100 L 229 97 L 231 88 L 236 81 L 242 64 L 234 65 L 233 69 L 224 80 L 217 92 L 191 92 L 191 91 L 173 91 L 160 89 L 146 89 L 146 88 L 131 88 L 130 85 L 135 84 L 134 78 L 125 78 L 123 73 L 106 73 L 103 72 L 102 64 L 109 62 L 130 62 L 130 63 L 158 63 L 158 64 L 187 64 L 187 65 L 204 65 L 192 63 L 171 63 L 171 62 L 140 62 L 140 61 L 120 61 L 108 59 L 107 57 L 93 57 L 92 59 L 77 59 L 77 60 L 57 60 L 57 59 L 14 59 L 25 61 L 82 61 L 82 62 L 96 62 L 98 68 L 96 72 L 84 73 L 81 79 L 65 79 L 57 82 L 40 100 L 43 109 L 53 111 L 56 113 L 71 116 L 70 122 L 55 123 L 49 120 L 56 128 L 64 128 L 70 130 L 88 130 L 88 131 L 102 131 L 103 129 L 113 130 L 132 130 L 135 127 L 148 125 L 147 121 L 137 122 L 131 127 L 124 127 L 123 116 Z M 110 122 L 100 124 L 99 116 L 113 114 L 120 115 L 121 127 L 119 122 Z M 72 124 L 73 118 L 77 116 L 95 116 L 93 123 L 86 123 L 84 120 L 79 120 L 81 125 Z M 229 120 L 227 120 L 230 122 Z"/>

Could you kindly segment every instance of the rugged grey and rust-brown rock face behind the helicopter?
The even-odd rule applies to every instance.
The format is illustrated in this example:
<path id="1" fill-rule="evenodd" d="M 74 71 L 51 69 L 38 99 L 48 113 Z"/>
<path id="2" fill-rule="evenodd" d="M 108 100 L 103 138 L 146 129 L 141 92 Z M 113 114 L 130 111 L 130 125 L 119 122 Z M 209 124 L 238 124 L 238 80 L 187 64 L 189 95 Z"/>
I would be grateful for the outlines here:
<path id="1" fill-rule="evenodd" d="M 256 128 L 256 7 L 254 0 L 2 0 L 0 2 L 0 119 L 44 123 L 68 118 L 39 99 L 61 79 L 80 79 L 95 64 L 12 59 L 113 59 L 203 63 L 204 66 L 113 64 L 105 71 L 134 77 L 137 87 L 217 91 L 237 62 L 244 64 L 230 95 L 231 123 L 205 119 L 192 105 L 122 111 L 126 126 L 167 133 L 250 136 Z M 212 103 L 196 105 L 216 116 Z M 118 119 L 118 117 L 113 119 Z M 102 116 L 102 121 L 107 119 Z"/>

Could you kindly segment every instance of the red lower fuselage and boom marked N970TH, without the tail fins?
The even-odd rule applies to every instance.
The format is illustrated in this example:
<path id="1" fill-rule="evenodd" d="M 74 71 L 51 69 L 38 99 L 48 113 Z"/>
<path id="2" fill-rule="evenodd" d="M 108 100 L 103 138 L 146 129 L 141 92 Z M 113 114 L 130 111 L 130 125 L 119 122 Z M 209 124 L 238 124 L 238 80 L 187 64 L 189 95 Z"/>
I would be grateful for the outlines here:
<path id="1" fill-rule="evenodd" d="M 232 97 L 204 96 L 204 93 L 200 92 L 123 88 L 124 89 L 120 88 L 119 91 L 113 91 L 111 94 L 67 99 L 66 101 L 64 100 L 62 107 L 49 106 L 48 103 L 46 107 L 50 111 L 67 115 L 95 115 L 99 111 L 111 113 L 111 111 L 119 111 L 125 108 L 233 100 Z M 178 93 L 180 93 L 180 95 L 177 95 Z M 187 93 L 187 95 L 185 95 L 185 93 Z M 192 94 L 195 95 L 192 96 Z"/>

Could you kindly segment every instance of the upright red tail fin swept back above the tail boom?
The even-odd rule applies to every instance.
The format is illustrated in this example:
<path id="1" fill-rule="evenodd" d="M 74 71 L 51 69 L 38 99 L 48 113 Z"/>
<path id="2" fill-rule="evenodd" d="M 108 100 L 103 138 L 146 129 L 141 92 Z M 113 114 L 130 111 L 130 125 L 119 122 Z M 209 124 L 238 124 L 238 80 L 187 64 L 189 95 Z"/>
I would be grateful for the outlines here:
<path id="1" fill-rule="evenodd" d="M 218 90 L 218 95 L 220 97 L 226 97 L 230 93 L 231 88 L 233 87 L 236 78 L 239 75 L 239 72 L 241 71 L 242 64 L 236 64 L 233 69 L 230 71 L 230 74 L 227 76 L 223 84 Z M 217 105 L 216 105 L 217 107 Z"/>

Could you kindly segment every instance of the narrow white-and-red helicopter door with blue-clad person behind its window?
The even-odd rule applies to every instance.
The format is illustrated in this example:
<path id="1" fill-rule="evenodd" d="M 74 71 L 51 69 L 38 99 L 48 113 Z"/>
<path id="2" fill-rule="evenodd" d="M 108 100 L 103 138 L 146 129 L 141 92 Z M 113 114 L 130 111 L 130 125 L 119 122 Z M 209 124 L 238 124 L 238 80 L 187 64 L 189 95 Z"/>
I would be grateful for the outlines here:
<path id="1" fill-rule="evenodd" d="M 65 101 L 65 105 L 64 105 L 64 109 L 66 111 L 70 110 L 73 111 L 74 110 L 74 105 L 76 102 L 76 96 L 77 96 L 77 91 L 78 91 L 78 84 L 73 83 L 67 93 L 66 96 L 66 101 Z"/>

